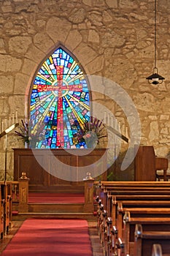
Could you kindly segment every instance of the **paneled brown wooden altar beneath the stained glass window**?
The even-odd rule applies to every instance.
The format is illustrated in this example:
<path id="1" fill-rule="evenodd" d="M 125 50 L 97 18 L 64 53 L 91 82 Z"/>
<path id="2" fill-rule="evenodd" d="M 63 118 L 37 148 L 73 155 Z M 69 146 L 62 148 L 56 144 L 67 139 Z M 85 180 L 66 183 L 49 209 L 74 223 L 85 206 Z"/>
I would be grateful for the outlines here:
<path id="1" fill-rule="evenodd" d="M 14 150 L 14 180 L 18 181 L 26 172 L 30 192 L 84 192 L 84 181 L 90 170 L 96 180 L 107 180 L 107 149 L 96 148 L 57 148 L 31 149 L 13 148 Z M 79 171 L 83 167 L 83 178 Z M 69 177 L 61 178 L 66 170 Z M 77 179 L 72 178 L 72 171 Z M 100 175 L 96 176 L 98 173 Z M 75 174 L 74 174 L 75 175 Z M 58 178 L 59 177 L 59 178 Z"/>

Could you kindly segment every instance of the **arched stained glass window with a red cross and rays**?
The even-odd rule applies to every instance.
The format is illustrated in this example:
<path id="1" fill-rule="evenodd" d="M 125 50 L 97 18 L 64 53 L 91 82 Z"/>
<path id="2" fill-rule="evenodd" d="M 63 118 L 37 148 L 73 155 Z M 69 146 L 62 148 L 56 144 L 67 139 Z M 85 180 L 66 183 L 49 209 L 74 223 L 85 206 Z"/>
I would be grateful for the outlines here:
<path id="1" fill-rule="evenodd" d="M 88 82 L 79 64 L 57 48 L 36 73 L 31 89 L 31 147 L 74 148 L 77 125 L 90 119 Z M 77 148 L 85 142 L 76 144 Z"/>

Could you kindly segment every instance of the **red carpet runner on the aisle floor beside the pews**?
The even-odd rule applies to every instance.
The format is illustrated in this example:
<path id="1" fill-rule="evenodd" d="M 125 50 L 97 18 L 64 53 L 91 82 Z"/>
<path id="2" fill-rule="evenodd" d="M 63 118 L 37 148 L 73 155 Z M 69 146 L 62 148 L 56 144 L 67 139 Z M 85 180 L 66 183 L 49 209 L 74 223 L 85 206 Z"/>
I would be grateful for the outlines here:
<path id="1" fill-rule="evenodd" d="M 82 219 L 26 219 L 3 256 L 92 256 L 88 222 Z"/>

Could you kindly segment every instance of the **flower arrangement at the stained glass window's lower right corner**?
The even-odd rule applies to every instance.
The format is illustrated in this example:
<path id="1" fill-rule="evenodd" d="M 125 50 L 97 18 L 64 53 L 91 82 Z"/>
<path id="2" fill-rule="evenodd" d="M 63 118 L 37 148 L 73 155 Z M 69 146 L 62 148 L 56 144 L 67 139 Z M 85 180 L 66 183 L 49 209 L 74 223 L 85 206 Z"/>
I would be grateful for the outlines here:
<path id="1" fill-rule="evenodd" d="M 74 121 L 74 127 L 77 132 L 74 133 L 73 143 L 74 145 L 87 146 L 88 148 L 95 148 L 99 143 L 100 138 L 107 137 L 104 135 L 104 126 L 102 121 L 97 118 L 90 117 L 90 121 L 84 124 L 79 123 L 77 120 Z"/>

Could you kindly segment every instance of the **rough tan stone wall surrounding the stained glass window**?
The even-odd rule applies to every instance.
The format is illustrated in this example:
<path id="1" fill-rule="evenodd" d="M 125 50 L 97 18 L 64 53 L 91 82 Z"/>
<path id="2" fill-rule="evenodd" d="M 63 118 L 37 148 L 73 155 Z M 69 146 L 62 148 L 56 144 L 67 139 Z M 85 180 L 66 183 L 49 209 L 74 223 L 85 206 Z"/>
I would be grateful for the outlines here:
<path id="1" fill-rule="evenodd" d="M 29 89 L 36 69 L 62 44 L 80 61 L 86 74 L 108 79 L 129 95 L 139 113 L 141 143 L 154 146 L 158 156 L 169 157 L 170 1 L 158 0 L 157 66 L 166 78 L 158 86 L 146 80 L 154 65 L 154 5 L 154 0 L 1 0 L 1 119 L 15 110 L 19 119 L 28 116 Z M 128 125 L 112 83 L 104 83 L 104 94 L 93 94 L 93 98 Z M 133 114 L 129 113 L 131 120 Z M 136 120 L 131 124 L 138 132 Z M 8 178 L 13 173 L 12 148 L 22 146 L 14 134 L 8 136 Z M 2 179 L 4 148 L 1 138 Z M 123 143 L 121 150 L 126 151 L 127 145 Z M 131 172 L 125 178 L 131 178 Z"/>

